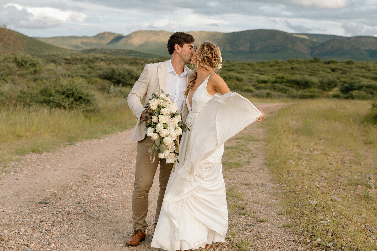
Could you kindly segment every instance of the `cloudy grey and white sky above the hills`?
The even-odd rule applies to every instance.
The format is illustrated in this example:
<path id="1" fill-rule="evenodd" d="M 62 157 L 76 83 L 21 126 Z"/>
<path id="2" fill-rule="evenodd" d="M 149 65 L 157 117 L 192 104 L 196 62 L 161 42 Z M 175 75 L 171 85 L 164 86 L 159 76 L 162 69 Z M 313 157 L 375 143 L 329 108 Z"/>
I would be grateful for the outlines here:
<path id="1" fill-rule="evenodd" d="M 250 29 L 377 37 L 377 0 L 0 0 L 0 24 L 30 37 Z"/>

